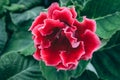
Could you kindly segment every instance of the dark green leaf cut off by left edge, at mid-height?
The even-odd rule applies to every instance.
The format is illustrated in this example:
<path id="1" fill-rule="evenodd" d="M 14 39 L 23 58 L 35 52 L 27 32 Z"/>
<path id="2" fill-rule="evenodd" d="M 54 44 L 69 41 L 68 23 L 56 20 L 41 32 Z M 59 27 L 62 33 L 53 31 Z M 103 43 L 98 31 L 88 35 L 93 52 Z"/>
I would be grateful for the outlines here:
<path id="1" fill-rule="evenodd" d="M 4 18 L 0 19 L 0 54 L 7 42 L 7 33 L 5 29 L 5 21 Z"/>

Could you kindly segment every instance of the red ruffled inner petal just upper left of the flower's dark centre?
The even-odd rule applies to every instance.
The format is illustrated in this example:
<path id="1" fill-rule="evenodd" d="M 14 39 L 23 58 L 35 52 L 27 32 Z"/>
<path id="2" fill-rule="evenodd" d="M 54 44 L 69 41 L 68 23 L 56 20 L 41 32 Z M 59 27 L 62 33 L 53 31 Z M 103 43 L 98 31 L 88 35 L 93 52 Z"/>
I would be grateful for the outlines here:
<path id="1" fill-rule="evenodd" d="M 46 19 L 44 20 L 44 26 L 39 29 L 43 36 L 50 35 L 55 28 L 64 28 L 64 23 L 59 20 Z"/>

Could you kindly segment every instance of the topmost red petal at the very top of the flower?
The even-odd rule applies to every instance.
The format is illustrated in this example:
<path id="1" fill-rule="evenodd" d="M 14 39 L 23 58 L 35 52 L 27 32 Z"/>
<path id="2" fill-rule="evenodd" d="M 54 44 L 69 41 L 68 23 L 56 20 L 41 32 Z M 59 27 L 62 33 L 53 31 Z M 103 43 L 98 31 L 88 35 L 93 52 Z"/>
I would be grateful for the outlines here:
<path id="1" fill-rule="evenodd" d="M 51 6 L 48 8 L 48 18 L 52 18 L 53 11 L 55 10 L 60 10 L 60 7 L 56 2 L 52 3 Z"/>

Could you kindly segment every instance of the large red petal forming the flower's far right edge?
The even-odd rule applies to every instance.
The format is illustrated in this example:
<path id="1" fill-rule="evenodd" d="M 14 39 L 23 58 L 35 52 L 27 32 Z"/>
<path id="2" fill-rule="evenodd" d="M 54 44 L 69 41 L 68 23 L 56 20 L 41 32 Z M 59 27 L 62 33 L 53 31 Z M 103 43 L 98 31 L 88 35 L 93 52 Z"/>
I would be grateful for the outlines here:
<path id="1" fill-rule="evenodd" d="M 84 41 L 85 45 L 85 54 L 82 56 L 81 59 L 91 59 L 93 52 L 99 48 L 101 42 L 98 36 L 90 30 L 86 30 L 84 36 L 82 37 L 82 40 Z"/>

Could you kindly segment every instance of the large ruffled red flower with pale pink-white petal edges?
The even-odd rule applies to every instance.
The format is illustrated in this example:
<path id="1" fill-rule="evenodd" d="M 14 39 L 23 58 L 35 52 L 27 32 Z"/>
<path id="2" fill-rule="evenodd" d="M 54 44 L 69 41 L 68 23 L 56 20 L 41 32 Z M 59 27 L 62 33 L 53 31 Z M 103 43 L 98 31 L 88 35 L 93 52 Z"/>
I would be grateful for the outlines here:
<path id="1" fill-rule="evenodd" d="M 76 16 L 74 7 L 59 7 L 58 3 L 53 3 L 47 13 L 40 13 L 30 27 L 35 59 L 58 70 L 75 69 L 79 60 L 91 59 L 100 46 L 96 22 L 86 17 L 79 22 Z"/>

